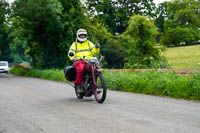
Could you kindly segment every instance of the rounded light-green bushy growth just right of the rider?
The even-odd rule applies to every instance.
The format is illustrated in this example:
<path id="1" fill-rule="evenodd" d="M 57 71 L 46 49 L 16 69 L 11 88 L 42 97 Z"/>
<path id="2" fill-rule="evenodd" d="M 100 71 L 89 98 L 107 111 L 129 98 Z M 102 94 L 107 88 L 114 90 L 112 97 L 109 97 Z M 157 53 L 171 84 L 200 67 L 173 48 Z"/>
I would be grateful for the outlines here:
<path id="1" fill-rule="evenodd" d="M 107 40 L 102 48 L 106 68 L 163 68 L 166 59 L 156 46 L 157 28 L 146 16 L 134 15 L 127 30 Z"/>

